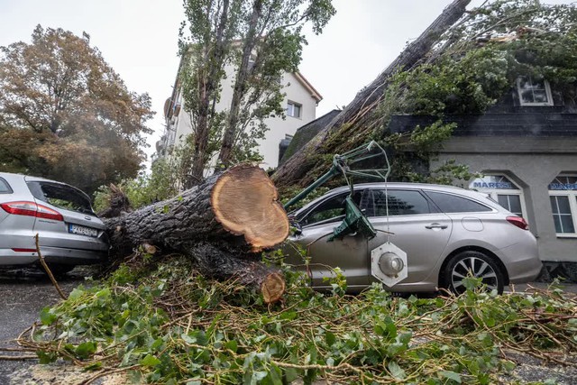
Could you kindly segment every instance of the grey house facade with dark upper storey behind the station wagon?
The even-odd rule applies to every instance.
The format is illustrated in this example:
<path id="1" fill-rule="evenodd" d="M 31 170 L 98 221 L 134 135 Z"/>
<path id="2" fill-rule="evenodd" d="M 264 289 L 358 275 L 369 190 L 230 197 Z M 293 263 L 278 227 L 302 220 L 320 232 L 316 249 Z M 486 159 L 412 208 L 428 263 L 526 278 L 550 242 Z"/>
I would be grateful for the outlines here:
<path id="1" fill-rule="evenodd" d="M 490 194 L 523 216 L 536 235 L 542 261 L 577 279 L 577 105 L 546 80 L 519 78 L 484 115 L 450 115 L 457 128 L 430 169 L 446 160 L 468 165 L 483 178 L 465 184 Z M 389 130 L 413 130 L 429 116 L 394 116 Z M 562 270 L 563 270 L 562 269 Z M 567 271 L 568 270 L 568 271 Z M 572 276 L 574 275 L 574 276 Z"/>

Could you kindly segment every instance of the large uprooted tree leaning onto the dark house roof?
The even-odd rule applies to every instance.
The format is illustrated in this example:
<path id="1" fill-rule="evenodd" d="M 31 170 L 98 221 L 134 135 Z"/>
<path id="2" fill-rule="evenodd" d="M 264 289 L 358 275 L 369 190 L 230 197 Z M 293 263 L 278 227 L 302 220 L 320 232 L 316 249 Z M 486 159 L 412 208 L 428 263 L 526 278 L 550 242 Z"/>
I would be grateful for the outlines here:
<path id="1" fill-rule="evenodd" d="M 332 154 L 374 139 L 393 153 L 393 179 L 449 182 L 468 179 L 460 165 L 418 170 L 455 127 L 450 115 L 481 114 L 505 95 L 519 76 L 546 78 L 574 97 L 577 41 L 574 5 L 529 0 L 486 2 L 465 12 L 454 0 L 371 85 L 363 88 L 316 137 L 274 174 L 279 188 L 307 185 L 327 168 Z M 434 124 L 389 133 L 393 115 L 428 115 Z M 438 173 L 435 174 L 435 172 Z"/>

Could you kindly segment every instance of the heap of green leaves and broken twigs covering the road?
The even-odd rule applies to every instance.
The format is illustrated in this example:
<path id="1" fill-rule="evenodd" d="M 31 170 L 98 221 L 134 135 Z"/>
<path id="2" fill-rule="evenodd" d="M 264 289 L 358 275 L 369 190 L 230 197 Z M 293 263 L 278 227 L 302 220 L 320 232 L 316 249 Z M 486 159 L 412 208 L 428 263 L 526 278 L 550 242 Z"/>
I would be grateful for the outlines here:
<path id="1" fill-rule="evenodd" d="M 460 297 L 395 298 L 379 285 L 350 297 L 338 270 L 325 294 L 285 273 L 284 302 L 267 307 L 182 257 L 138 255 L 42 310 L 20 342 L 41 362 L 61 357 L 96 371 L 93 380 L 125 370 L 172 384 L 489 384 L 519 352 L 575 365 L 564 360 L 577 351 L 577 299 L 561 289 L 498 296 L 471 279 Z"/>

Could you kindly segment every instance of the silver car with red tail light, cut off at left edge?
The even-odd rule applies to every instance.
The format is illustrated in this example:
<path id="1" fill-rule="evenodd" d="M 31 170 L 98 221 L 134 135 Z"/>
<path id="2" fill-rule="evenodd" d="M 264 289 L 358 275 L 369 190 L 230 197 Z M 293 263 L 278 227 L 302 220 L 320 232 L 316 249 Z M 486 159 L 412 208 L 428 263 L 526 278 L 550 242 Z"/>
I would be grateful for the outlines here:
<path id="1" fill-rule="evenodd" d="M 39 263 L 40 251 L 55 273 L 102 261 L 105 225 L 90 198 L 54 180 L 0 172 L 0 267 Z"/>

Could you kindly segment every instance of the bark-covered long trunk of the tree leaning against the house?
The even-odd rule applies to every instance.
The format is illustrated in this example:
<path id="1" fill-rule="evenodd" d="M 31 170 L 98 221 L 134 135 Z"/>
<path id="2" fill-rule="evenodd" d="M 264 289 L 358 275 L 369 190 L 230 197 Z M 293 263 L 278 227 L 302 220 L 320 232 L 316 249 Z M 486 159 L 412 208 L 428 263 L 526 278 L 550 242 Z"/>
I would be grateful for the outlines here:
<path id="1" fill-rule="evenodd" d="M 447 5 L 443 13 L 426 28 L 425 32 L 421 33 L 417 40 L 408 44 L 397 59 L 393 60 L 369 86 L 362 88 L 353 101 L 339 115 L 336 115 L 331 123 L 279 167 L 272 177 L 275 183 L 278 186 L 290 186 L 299 182 L 302 184 L 302 179 L 305 179 L 305 184 L 308 184 L 310 181 L 305 177 L 314 166 L 314 162 L 310 162 L 309 157 L 318 154 L 327 137 L 341 128 L 343 124 L 359 127 L 367 124 L 367 120 L 371 118 L 369 112 L 380 104 L 385 89 L 389 85 L 389 78 L 400 70 L 410 69 L 422 60 L 439 41 L 441 35 L 463 16 L 469 3 L 471 0 L 453 0 L 453 3 Z M 357 143 L 357 145 L 360 144 L 362 143 Z"/>

